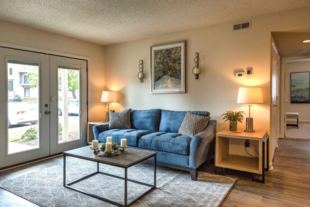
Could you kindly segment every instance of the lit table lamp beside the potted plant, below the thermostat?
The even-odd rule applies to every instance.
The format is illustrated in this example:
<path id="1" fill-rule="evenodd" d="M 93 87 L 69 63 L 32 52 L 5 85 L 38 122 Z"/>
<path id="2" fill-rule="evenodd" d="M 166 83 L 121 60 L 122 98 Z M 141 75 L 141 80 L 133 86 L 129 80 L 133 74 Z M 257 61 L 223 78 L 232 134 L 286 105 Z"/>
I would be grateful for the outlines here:
<path id="1" fill-rule="evenodd" d="M 262 87 L 239 87 L 237 103 L 249 104 L 249 117 L 246 117 L 245 132 L 255 132 L 253 130 L 253 118 L 251 117 L 251 107 L 254 103 L 263 103 Z M 253 112 L 253 111 L 252 111 Z"/>

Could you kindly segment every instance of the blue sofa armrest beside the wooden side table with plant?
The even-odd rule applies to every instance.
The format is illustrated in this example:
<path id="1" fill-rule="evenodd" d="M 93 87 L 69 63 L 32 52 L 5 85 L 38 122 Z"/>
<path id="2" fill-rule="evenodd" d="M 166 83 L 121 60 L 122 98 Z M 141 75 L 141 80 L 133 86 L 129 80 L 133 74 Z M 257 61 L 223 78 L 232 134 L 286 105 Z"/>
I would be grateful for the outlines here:
<path id="1" fill-rule="evenodd" d="M 215 153 L 216 120 L 209 120 L 207 127 L 196 134 L 189 148 L 189 167 L 197 168 Z"/>

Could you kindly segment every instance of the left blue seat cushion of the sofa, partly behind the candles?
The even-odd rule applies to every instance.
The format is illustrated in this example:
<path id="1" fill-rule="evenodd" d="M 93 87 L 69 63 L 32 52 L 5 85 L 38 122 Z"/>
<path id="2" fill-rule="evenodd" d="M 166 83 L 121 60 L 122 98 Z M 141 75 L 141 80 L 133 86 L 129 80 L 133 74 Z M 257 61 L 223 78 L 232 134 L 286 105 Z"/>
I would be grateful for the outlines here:
<path id="1" fill-rule="evenodd" d="M 139 129 L 111 129 L 111 130 L 101 132 L 98 136 L 98 139 L 99 139 L 99 142 L 105 143 L 107 141 L 107 137 L 112 137 L 112 142 L 121 144 L 121 139 L 126 138 L 127 145 L 137 146 L 138 139 L 141 136 L 144 136 L 150 133 L 153 133 L 153 132 L 147 131 L 147 130 L 139 130 Z"/>

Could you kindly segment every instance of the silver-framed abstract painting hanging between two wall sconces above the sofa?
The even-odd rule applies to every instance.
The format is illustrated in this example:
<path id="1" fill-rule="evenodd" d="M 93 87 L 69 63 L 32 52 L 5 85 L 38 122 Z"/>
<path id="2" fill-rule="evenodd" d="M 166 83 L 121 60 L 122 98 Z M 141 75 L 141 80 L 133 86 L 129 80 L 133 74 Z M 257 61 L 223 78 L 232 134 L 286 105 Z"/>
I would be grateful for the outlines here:
<path id="1" fill-rule="evenodd" d="M 186 41 L 151 46 L 151 93 L 185 93 Z"/>

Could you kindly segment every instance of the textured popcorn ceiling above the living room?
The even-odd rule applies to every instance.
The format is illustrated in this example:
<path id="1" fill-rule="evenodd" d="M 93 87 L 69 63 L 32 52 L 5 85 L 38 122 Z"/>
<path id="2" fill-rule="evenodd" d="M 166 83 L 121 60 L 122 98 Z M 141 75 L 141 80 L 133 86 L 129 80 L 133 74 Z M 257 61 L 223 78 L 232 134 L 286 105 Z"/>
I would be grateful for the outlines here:
<path id="1" fill-rule="evenodd" d="M 0 20 L 111 45 L 307 6 L 309 0 L 0 0 Z"/>

